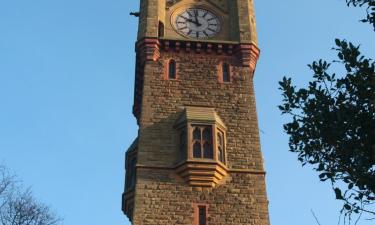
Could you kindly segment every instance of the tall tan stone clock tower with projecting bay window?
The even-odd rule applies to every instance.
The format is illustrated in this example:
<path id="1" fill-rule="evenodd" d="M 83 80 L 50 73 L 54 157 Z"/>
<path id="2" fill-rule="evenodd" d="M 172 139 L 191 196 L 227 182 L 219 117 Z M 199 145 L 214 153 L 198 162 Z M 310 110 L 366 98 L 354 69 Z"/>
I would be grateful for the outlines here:
<path id="1" fill-rule="evenodd" d="M 253 0 L 140 0 L 122 210 L 134 225 L 268 225 Z"/>

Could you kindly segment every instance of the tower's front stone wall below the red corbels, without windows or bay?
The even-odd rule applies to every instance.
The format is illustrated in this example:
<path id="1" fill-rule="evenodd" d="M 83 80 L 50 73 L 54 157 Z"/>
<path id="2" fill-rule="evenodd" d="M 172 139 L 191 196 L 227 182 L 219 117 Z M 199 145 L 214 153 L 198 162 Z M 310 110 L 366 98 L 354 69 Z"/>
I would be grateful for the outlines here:
<path id="1" fill-rule="evenodd" d="M 165 79 L 171 58 L 177 80 Z M 218 80 L 222 61 L 232 65 L 231 83 Z M 208 205 L 208 224 L 269 224 L 251 68 L 235 56 L 163 52 L 144 74 L 134 224 L 193 224 L 193 204 Z M 215 108 L 228 127 L 229 175 L 215 188 L 191 187 L 173 169 L 174 123 L 186 105 Z"/>

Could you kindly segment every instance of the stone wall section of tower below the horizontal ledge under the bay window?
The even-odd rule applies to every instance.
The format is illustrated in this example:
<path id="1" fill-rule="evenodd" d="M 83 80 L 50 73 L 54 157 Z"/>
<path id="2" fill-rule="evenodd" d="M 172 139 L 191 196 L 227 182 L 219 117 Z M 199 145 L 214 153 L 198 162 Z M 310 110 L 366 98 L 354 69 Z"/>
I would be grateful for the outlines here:
<path id="1" fill-rule="evenodd" d="M 216 188 L 189 187 L 169 170 L 139 169 L 138 174 L 133 224 L 195 225 L 194 204 L 208 205 L 210 225 L 269 224 L 262 174 L 233 172 Z"/>

